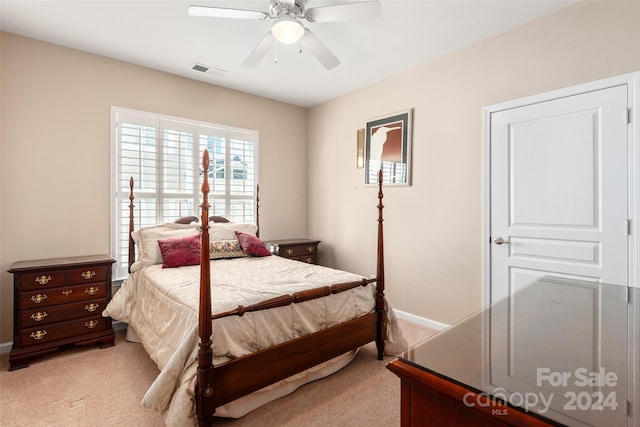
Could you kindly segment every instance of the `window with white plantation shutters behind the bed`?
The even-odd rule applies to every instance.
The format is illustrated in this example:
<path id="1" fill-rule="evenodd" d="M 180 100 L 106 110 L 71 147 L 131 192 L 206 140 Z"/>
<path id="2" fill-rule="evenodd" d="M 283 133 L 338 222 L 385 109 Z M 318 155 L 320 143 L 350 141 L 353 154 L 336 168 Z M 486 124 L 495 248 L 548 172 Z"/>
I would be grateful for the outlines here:
<path id="1" fill-rule="evenodd" d="M 210 215 L 254 222 L 258 132 L 112 107 L 112 253 L 116 278 L 127 274 L 129 179 L 135 227 L 200 217 L 200 187 L 209 177 Z M 202 153 L 209 150 L 209 170 Z"/>

